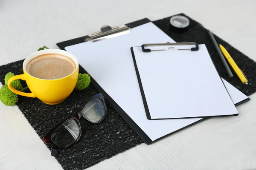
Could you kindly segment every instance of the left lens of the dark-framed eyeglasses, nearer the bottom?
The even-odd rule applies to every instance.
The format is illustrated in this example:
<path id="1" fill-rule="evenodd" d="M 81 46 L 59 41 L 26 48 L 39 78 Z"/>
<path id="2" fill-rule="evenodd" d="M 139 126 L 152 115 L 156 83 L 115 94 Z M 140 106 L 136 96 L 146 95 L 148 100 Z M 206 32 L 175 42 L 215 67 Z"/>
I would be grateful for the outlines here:
<path id="1" fill-rule="evenodd" d="M 69 119 L 52 132 L 51 139 L 59 147 L 67 147 L 79 138 L 80 133 L 78 122 L 74 119 Z"/>

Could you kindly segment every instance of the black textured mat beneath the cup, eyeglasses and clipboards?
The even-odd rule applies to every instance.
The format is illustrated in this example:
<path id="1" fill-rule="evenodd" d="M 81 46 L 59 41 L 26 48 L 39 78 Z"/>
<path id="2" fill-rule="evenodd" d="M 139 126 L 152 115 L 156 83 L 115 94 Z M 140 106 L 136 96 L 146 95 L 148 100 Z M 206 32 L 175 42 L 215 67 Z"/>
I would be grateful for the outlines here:
<path id="1" fill-rule="evenodd" d="M 243 85 L 234 72 L 234 78 L 229 79 L 224 65 L 209 39 L 207 29 L 189 18 L 189 30 L 186 33 L 177 34 L 169 31 L 169 18 L 157 20 L 153 23 L 176 42 L 192 41 L 205 43 L 221 77 L 247 96 L 256 92 L 256 73 L 253 71 L 256 68 L 256 62 L 233 48 L 227 42 L 215 37 L 218 43 L 227 48 L 241 70 L 244 71 L 249 79 L 249 85 Z M 20 60 L 0 66 L 0 82 L 4 84 L 4 76 L 9 71 L 12 71 L 15 75 L 23 74 L 22 63 L 23 60 Z M 22 83 L 23 87 L 26 87 L 26 83 L 24 81 Z M 59 105 L 46 105 L 37 98 L 19 96 L 17 106 L 42 138 L 56 123 L 78 113 L 90 97 L 97 93 L 99 92 L 92 85 L 89 85 L 88 88 L 82 91 L 73 91 Z M 142 143 L 139 136 L 113 108 L 108 110 L 105 120 L 99 124 L 91 124 L 85 119 L 80 119 L 80 123 L 82 136 L 79 142 L 73 145 L 73 147 L 60 150 L 56 156 L 56 159 L 65 170 L 85 169 Z"/>

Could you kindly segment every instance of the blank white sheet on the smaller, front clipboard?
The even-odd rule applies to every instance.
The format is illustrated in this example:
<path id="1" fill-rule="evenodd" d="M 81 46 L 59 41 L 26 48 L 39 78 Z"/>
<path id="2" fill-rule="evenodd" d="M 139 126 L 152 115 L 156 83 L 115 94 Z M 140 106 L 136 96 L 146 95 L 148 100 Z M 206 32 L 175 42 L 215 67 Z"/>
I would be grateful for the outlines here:
<path id="1" fill-rule="evenodd" d="M 238 114 L 204 44 L 198 51 L 133 50 L 151 119 Z"/>

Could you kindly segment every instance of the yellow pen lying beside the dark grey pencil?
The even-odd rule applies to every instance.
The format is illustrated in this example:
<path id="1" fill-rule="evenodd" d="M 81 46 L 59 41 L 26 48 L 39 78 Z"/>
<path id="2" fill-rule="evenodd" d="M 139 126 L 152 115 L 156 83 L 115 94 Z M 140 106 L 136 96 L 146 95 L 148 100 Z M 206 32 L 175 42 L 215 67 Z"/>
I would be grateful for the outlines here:
<path id="1" fill-rule="evenodd" d="M 227 61 L 230 63 L 231 67 L 234 69 L 234 71 L 238 75 L 239 79 L 241 79 L 241 81 L 247 85 L 248 80 L 247 80 L 246 76 L 244 75 L 243 71 L 241 71 L 241 69 L 236 65 L 236 62 L 233 60 L 233 58 L 230 56 L 230 54 L 227 52 L 227 50 L 221 44 L 219 46 L 221 48 L 221 52 L 226 57 Z"/>

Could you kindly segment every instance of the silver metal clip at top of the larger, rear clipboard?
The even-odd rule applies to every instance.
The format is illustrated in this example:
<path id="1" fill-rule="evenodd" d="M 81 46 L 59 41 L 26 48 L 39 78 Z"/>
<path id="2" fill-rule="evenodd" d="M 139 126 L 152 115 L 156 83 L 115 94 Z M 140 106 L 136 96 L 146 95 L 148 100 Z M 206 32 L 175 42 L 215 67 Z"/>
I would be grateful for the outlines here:
<path id="1" fill-rule="evenodd" d="M 85 41 L 100 41 L 105 40 L 113 37 L 117 37 L 120 35 L 128 34 L 131 32 L 131 28 L 126 25 L 121 26 L 102 26 L 100 31 L 95 32 L 93 34 L 89 34 L 85 37 Z"/>

